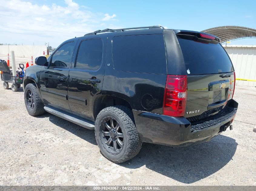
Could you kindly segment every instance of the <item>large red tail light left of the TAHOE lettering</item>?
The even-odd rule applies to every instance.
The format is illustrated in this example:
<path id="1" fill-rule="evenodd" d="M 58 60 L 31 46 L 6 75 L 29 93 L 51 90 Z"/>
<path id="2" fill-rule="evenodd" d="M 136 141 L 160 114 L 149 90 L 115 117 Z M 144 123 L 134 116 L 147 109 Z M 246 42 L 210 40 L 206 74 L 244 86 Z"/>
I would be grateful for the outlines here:
<path id="1" fill-rule="evenodd" d="M 167 75 L 163 114 L 181 117 L 185 114 L 187 102 L 187 76 Z"/>

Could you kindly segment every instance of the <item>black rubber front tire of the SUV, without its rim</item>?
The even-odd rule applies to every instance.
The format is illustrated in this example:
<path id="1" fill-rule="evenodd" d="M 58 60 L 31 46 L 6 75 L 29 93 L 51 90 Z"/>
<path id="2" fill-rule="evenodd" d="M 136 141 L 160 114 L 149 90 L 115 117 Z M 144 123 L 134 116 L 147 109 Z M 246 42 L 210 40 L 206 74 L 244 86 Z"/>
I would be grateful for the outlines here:
<path id="1" fill-rule="evenodd" d="M 26 97 L 27 94 L 29 93 L 29 91 L 32 92 L 32 98 L 34 101 L 33 108 L 29 107 L 28 100 Z M 37 115 L 42 115 L 42 114 L 46 113 L 46 111 L 44 110 L 44 104 L 42 103 L 42 100 L 38 95 L 38 91 L 37 91 L 37 88 L 34 83 L 26 85 L 25 92 L 24 92 L 24 100 L 25 100 L 25 106 L 26 106 L 26 109 L 27 109 L 29 115 L 37 116 Z"/>

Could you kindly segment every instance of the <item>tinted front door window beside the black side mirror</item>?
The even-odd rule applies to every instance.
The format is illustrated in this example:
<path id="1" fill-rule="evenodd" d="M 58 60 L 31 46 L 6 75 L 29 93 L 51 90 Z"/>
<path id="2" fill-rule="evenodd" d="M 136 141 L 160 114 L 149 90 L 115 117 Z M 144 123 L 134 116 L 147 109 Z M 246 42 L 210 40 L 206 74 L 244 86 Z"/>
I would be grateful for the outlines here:
<path id="1" fill-rule="evenodd" d="M 50 67 L 70 67 L 74 42 L 62 45 L 52 56 Z"/>

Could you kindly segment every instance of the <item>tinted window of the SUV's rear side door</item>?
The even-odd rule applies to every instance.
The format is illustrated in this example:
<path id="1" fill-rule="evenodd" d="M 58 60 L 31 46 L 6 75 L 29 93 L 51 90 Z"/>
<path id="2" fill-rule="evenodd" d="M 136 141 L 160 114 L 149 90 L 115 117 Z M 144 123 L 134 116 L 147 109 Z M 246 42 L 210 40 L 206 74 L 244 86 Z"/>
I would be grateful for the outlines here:
<path id="1" fill-rule="evenodd" d="M 81 42 L 77 60 L 76 68 L 90 68 L 97 69 L 102 62 L 103 44 L 99 39 L 84 40 Z"/>

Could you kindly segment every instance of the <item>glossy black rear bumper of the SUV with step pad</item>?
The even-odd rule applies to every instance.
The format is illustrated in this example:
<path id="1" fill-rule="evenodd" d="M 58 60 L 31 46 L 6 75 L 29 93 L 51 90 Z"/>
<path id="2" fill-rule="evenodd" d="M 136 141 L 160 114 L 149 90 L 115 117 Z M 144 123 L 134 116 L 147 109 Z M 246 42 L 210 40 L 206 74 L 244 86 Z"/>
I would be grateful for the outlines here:
<path id="1" fill-rule="evenodd" d="M 202 122 L 204 125 L 202 129 L 193 129 L 194 124 L 191 126 L 185 117 L 170 117 L 137 110 L 133 110 L 133 114 L 139 136 L 143 142 L 188 146 L 210 141 L 214 136 L 220 134 L 224 126 L 230 126 L 237 107 L 236 101 L 229 100 L 226 108 L 230 112 L 220 114 L 218 119 L 216 117 L 209 118 L 207 122 Z M 205 126 L 206 124 L 208 126 Z"/>

